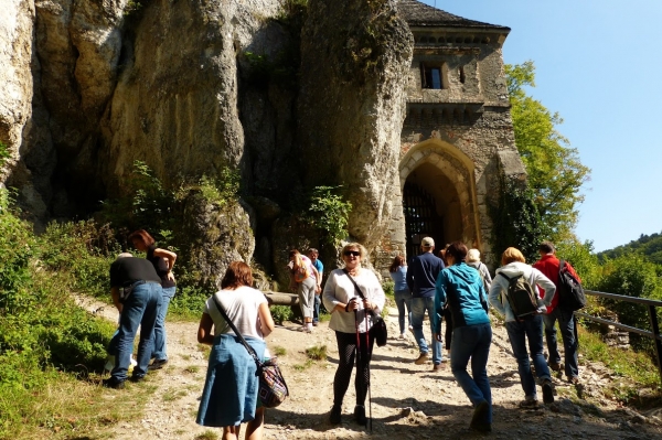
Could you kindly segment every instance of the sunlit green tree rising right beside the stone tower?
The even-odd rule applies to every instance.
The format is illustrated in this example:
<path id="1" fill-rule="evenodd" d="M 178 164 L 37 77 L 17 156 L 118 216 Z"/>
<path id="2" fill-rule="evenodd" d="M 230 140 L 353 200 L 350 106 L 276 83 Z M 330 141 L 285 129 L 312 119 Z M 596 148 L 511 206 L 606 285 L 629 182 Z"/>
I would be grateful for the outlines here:
<path id="1" fill-rule="evenodd" d="M 541 221 L 549 238 L 563 242 L 573 237 L 578 205 L 584 201 L 581 185 L 590 170 L 579 161 L 576 149 L 556 129 L 563 124 L 557 112 L 528 96 L 525 87 L 535 87 L 535 66 L 527 61 L 505 65 L 515 143 L 526 172 Z"/>

